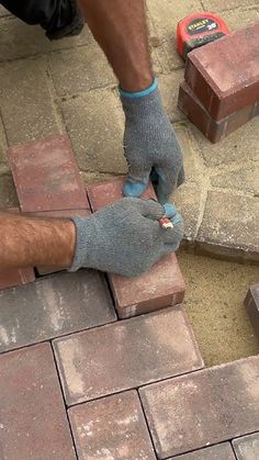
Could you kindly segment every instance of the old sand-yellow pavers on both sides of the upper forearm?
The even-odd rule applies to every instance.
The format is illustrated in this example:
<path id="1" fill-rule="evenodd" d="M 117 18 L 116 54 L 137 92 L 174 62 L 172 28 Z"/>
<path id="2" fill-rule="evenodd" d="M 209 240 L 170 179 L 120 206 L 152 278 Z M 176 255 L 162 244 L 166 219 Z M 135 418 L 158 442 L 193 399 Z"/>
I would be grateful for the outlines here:
<path id="1" fill-rule="evenodd" d="M 212 145 L 184 119 L 177 109 L 177 94 L 183 78 L 184 64 L 174 45 L 176 26 L 180 19 L 193 11 L 214 11 L 226 20 L 232 31 L 259 20 L 256 0 L 188 0 L 176 8 L 171 0 L 148 0 L 151 55 L 159 74 L 162 99 L 179 134 L 184 150 L 188 180 L 172 197 L 185 220 L 185 237 L 195 242 L 200 227 L 206 225 L 205 239 L 210 254 L 226 257 L 229 253 L 243 258 L 246 249 L 251 260 L 258 260 L 259 243 L 255 240 L 250 221 L 259 218 L 259 117 L 249 122 L 226 139 Z M 88 26 L 78 37 L 48 42 L 37 26 L 0 13 L 0 93 L 3 121 L 3 147 L 0 142 L 0 195 L 12 200 L 12 183 L 8 181 L 4 165 L 4 139 L 13 146 L 44 138 L 49 134 L 69 134 L 81 170 L 89 177 L 99 173 L 126 172 L 122 137 L 124 117 L 115 91 L 116 80 L 106 65 Z M 112 113 L 112 116 L 110 114 Z M 0 117 L 0 126 L 1 126 Z M 0 130 L 1 133 L 1 130 Z M 246 153 L 244 155 L 244 153 Z M 209 193 L 207 193 L 209 192 Z M 214 225 L 207 225 L 206 215 L 214 214 L 218 227 L 225 226 L 221 206 L 212 209 L 214 193 L 225 201 L 229 194 L 233 204 L 227 232 L 235 235 L 236 218 L 240 215 L 238 242 L 224 240 Z M 10 197 L 10 198 L 9 198 Z M 244 218 L 244 202 L 248 214 Z M 205 214 L 204 214 L 205 212 Z M 204 218 L 203 218 L 204 215 Z M 254 236 L 252 236 L 254 235 Z M 218 250 L 219 247 L 219 250 Z M 246 247 L 240 257 L 239 247 Z M 199 245 L 198 245 L 199 248 Z"/>

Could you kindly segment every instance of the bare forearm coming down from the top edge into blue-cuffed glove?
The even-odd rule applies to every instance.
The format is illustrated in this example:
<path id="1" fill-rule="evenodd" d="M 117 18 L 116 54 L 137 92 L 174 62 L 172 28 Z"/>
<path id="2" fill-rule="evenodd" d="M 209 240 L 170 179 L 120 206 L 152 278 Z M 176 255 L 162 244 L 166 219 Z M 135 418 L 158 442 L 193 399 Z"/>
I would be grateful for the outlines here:
<path id="1" fill-rule="evenodd" d="M 87 23 L 125 91 L 153 81 L 144 0 L 78 0 Z"/>

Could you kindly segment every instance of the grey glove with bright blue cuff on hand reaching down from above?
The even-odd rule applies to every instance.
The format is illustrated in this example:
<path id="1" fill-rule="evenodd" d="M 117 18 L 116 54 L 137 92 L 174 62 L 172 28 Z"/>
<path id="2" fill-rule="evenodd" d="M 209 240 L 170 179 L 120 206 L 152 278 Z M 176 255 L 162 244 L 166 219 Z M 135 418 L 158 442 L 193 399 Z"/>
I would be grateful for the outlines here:
<path id="1" fill-rule="evenodd" d="M 124 154 L 128 164 L 125 197 L 140 197 L 151 169 L 158 179 L 156 192 L 160 203 L 184 181 L 182 154 L 170 121 L 164 110 L 157 80 L 140 92 L 120 89 L 126 116 Z M 153 180 L 153 177 L 151 177 Z"/>

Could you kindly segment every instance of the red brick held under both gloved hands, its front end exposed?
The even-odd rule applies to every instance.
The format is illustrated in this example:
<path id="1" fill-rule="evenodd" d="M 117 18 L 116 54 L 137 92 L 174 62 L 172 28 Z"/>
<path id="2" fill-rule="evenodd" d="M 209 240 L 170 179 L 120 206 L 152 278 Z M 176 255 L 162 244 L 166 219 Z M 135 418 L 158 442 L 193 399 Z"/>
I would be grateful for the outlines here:
<path id="1" fill-rule="evenodd" d="M 88 187 L 92 211 L 123 198 L 123 179 Z M 143 198 L 156 198 L 150 186 Z M 185 284 L 174 254 L 164 257 L 148 272 L 137 278 L 109 274 L 120 318 L 153 312 L 182 302 Z"/>

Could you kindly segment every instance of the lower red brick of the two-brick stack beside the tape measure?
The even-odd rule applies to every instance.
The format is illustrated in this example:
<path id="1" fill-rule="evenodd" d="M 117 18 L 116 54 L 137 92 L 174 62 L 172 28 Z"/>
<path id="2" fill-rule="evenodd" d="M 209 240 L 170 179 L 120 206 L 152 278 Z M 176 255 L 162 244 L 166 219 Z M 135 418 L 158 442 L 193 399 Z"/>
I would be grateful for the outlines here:
<path id="1" fill-rule="evenodd" d="M 248 105 L 223 120 L 215 121 L 185 81 L 180 85 L 178 108 L 213 143 L 217 143 L 259 115 L 259 102 Z"/>

